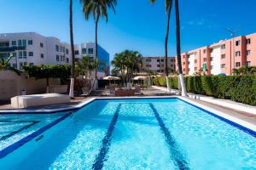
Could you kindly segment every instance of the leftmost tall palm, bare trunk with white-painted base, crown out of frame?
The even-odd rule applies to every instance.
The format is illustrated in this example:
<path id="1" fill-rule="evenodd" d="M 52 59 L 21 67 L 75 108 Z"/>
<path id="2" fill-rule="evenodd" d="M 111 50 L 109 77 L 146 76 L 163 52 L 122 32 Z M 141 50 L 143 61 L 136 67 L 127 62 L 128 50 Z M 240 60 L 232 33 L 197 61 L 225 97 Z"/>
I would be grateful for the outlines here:
<path id="1" fill-rule="evenodd" d="M 73 95 L 73 85 L 75 77 L 75 58 L 74 58 L 74 47 L 73 47 L 73 0 L 69 1 L 69 30 L 70 30 L 70 44 L 71 44 L 71 78 L 70 78 L 70 89 L 69 96 L 71 98 Z"/>

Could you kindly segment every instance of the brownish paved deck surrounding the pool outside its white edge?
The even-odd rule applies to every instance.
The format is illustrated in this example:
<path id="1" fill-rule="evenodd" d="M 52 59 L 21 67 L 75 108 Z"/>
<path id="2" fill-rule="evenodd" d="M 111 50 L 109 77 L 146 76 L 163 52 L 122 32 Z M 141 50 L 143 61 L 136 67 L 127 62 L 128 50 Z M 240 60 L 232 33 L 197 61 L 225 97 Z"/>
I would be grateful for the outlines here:
<path id="1" fill-rule="evenodd" d="M 140 97 L 156 97 L 156 96 L 166 96 L 166 97 L 173 96 L 171 94 L 167 94 L 164 90 L 160 90 L 160 89 L 156 89 L 156 88 L 146 88 L 146 89 L 143 89 L 142 92 L 143 92 L 143 95 L 138 95 L 135 97 L 140 98 Z M 104 97 L 113 97 L 113 96 L 102 95 L 102 90 L 98 90 L 94 93 L 94 95 L 92 95 L 90 97 L 86 97 L 86 98 L 85 97 L 77 97 L 75 99 L 72 99 L 71 102 L 67 103 L 67 104 L 43 105 L 43 106 L 37 106 L 37 107 L 33 106 L 33 107 L 26 108 L 26 110 L 54 110 L 56 108 L 65 109 L 67 107 L 73 107 L 76 105 L 80 105 L 83 102 L 89 101 L 90 99 L 93 99 L 95 97 L 96 98 L 104 98 Z M 113 98 L 115 98 L 115 97 L 113 97 Z M 213 110 L 224 112 L 225 114 L 227 114 L 229 116 L 234 116 L 242 121 L 249 122 L 253 125 L 256 125 L 256 115 L 253 113 L 237 111 L 235 109 L 231 109 L 231 108 L 220 106 L 220 105 L 214 105 L 212 103 L 209 103 L 206 101 L 201 101 L 198 99 L 191 99 L 191 98 L 185 98 L 185 99 L 189 99 L 190 101 L 194 101 L 198 104 L 210 107 Z M 10 106 L 10 104 L 6 104 L 6 105 L 0 104 L 0 111 L 1 110 L 14 110 L 14 108 L 12 108 Z"/>

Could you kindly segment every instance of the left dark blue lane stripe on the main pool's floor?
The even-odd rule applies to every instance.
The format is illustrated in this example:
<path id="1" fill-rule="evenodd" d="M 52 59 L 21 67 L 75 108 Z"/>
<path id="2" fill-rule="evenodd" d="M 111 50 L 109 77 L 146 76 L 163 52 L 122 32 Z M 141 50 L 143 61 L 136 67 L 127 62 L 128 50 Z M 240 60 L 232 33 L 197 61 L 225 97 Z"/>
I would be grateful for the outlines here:
<path id="1" fill-rule="evenodd" d="M 107 161 L 106 156 L 108 154 L 109 146 L 111 144 L 111 137 L 112 137 L 114 125 L 116 124 L 118 117 L 119 117 L 120 108 L 121 108 L 121 104 L 119 104 L 117 106 L 117 109 L 113 115 L 112 121 L 109 124 L 108 131 L 107 131 L 104 139 L 102 140 L 102 148 L 99 151 L 98 156 L 96 156 L 96 160 L 94 161 L 94 164 L 92 165 L 92 169 L 96 169 L 96 170 L 102 169 L 104 161 Z"/>

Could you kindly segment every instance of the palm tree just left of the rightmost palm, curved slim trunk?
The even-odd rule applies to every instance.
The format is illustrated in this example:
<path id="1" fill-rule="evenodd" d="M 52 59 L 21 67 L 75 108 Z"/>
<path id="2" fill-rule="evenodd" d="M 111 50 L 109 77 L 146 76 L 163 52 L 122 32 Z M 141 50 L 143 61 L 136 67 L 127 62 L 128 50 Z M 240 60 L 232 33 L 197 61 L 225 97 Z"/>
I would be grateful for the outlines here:
<path id="1" fill-rule="evenodd" d="M 151 3 L 154 3 L 156 0 L 150 0 Z M 172 0 L 166 0 L 166 14 L 167 14 L 167 24 L 166 24 L 166 40 L 165 40 L 165 60 L 166 60 L 166 85 L 167 91 L 171 92 L 171 87 L 169 84 L 169 72 L 168 72 L 168 38 L 169 38 L 169 27 L 170 27 L 170 19 L 172 12 Z"/>

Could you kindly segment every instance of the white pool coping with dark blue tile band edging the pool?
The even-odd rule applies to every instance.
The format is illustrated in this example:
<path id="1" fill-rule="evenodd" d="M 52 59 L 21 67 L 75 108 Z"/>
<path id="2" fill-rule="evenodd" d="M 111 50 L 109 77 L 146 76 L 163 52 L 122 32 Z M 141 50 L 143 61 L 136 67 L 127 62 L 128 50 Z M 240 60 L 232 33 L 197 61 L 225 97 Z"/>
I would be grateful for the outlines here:
<path id="1" fill-rule="evenodd" d="M 243 131 L 244 133 L 249 133 L 253 137 L 256 138 L 256 125 L 243 121 L 235 116 L 230 116 L 225 114 L 222 111 L 217 111 L 215 109 L 212 109 L 211 107 L 208 107 L 206 105 L 201 105 L 199 103 L 196 103 L 195 101 L 192 101 L 190 99 L 186 99 L 182 96 L 157 96 L 157 97 L 104 97 L 104 98 L 92 98 L 87 101 L 84 101 L 80 103 L 79 105 L 75 105 L 72 107 L 67 107 L 67 108 L 61 108 L 61 109 L 55 109 L 55 110 L 50 110 L 48 113 L 55 113 L 59 111 L 71 111 L 71 113 L 67 113 L 65 116 L 61 116 L 59 119 L 55 120 L 54 122 L 50 122 L 49 124 L 45 125 L 44 127 L 39 128 L 36 132 L 31 133 L 27 135 L 26 137 L 16 141 L 14 144 L 10 144 L 9 146 L 3 148 L 3 150 L 0 150 L 0 159 L 2 159 L 5 156 L 8 156 L 9 153 L 17 150 L 22 146 L 23 144 L 26 144 L 27 142 L 31 141 L 32 139 L 36 139 L 40 134 L 44 133 L 46 130 L 49 130 L 49 128 L 55 126 L 59 122 L 62 122 L 65 120 L 68 116 L 71 116 L 75 111 L 77 111 L 79 108 L 84 107 L 84 105 L 89 105 L 95 100 L 102 100 L 102 99 L 180 99 L 184 103 L 187 103 L 189 105 L 193 105 L 196 108 L 200 109 L 201 111 L 206 112 L 209 115 L 215 116 L 216 118 L 220 119 L 221 121 L 224 121 L 228 124 L 230 124 L 233 127 L 236 127 Z M 25 110 L 22 110 L 25 111 Z M 38 110 L 27 110 L 32 113 L 37 113 Z M 39 110 L 38 113 L 42 113 L 42 110 Z M 15 111 L 17 113 L 18 111 Z M 45 111 L 44 111 L 45 112 Z"/>

